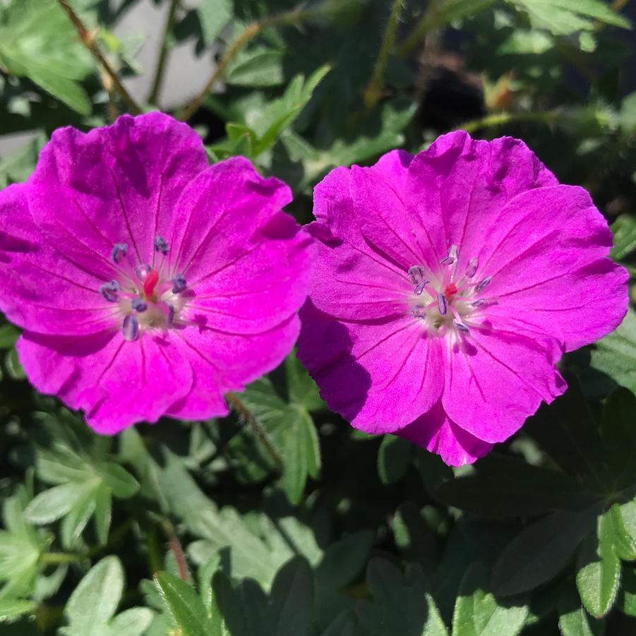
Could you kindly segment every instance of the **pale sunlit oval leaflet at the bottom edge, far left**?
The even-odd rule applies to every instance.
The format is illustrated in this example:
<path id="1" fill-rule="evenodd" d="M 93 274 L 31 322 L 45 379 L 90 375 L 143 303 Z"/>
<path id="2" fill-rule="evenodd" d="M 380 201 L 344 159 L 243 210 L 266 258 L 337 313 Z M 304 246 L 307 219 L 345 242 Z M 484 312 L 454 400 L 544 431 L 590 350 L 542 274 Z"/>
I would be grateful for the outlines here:
<path id="1" fill-rule="evenodd" d="M 106 625 L 115 613 L 124 591 L 124 570 L 115 556 L 103 558 L 73 590 L 64 608 L 68 627 L 66 636 L 94 634 Z"/>

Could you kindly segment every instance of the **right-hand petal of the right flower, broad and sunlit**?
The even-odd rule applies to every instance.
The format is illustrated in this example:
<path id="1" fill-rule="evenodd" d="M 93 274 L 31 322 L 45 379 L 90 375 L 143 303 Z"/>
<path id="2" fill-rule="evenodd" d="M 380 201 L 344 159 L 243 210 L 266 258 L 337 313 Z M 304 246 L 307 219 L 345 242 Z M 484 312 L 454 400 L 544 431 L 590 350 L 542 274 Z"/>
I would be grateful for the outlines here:
<path id="1" fill-rule="evenodd" d="M 499 215 L 481 272 L 492 277 L 492 316 L 515 316 L 550 333 L 565 350 L 594 342 L 627 311 L 628 274 L 607 257 L 611 232 L 582 188 L 556 186 L 512 199 Z"/>

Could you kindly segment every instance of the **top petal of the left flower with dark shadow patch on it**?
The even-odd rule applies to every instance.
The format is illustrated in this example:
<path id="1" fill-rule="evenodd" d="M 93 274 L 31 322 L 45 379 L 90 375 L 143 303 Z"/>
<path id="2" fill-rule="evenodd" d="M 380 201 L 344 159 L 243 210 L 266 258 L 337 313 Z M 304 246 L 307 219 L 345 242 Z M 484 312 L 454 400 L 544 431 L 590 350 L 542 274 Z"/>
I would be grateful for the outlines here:
<path id="1" fill-rule="evenodd" d="M 154 262 L 153 239 L 171 232 L 176 200 L 207 166 L 198 135 L 161 113 L 86 134 L 61 128 L 29 180 L 30 210 L 68 260 L 109 280 L 124 266 L 110 258 L 117 243 L 128 246 L 128 271 Z"/>

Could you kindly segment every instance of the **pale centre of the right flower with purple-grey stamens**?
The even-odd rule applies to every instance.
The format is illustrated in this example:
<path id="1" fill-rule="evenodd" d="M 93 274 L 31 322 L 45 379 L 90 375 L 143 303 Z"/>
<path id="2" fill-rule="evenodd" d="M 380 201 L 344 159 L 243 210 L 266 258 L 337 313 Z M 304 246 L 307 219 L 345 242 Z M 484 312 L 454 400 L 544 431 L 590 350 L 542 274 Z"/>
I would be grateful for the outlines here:
<path id="1" fill-rule="evenodd" d="M 469 259 L 463 272 L 458 271 L 458 265 L 457 246 L 452 245 L 448 256 L 440 260 L 438 270 L 428 271 L 422 265 L 409 268 L 409 279 L 415 285 L 411 313 L 433 335 L 469 334 L 483 309 L 497 302 L 481 293 L 491 277 L 473 280 L 479 268 L 476 258 Z"/>

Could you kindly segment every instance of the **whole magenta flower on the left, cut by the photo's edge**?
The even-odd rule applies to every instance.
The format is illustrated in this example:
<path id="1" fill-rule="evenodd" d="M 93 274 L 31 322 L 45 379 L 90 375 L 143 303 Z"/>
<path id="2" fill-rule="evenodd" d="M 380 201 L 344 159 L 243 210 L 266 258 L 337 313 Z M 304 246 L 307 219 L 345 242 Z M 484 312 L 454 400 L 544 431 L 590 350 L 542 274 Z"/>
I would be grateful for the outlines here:
<path id="1" fill-rule="evenodd" d="M 0 309 L 30 381 L 100 433 L 227 414 L 299 331 L 315 248 L 290 200 L 246 159 L 208 167 L 164 114 L 56 131 L 0 193 Z"/>

